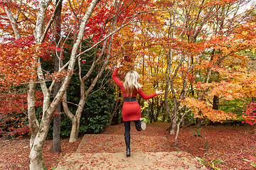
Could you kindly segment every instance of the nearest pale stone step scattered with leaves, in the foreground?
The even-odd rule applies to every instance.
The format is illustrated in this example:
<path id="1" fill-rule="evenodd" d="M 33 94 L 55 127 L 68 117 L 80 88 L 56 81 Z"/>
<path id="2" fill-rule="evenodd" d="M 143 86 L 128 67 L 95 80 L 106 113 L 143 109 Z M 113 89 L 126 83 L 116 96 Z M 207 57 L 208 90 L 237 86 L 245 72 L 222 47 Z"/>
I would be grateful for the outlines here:
<path id="1" fill-rule="evenodd" d="M 57 170 L 65 169 L 159 169 L 159 170 L 207 170 L 187 152 L 125 152 L 75 153 L 60 160 Z"/>

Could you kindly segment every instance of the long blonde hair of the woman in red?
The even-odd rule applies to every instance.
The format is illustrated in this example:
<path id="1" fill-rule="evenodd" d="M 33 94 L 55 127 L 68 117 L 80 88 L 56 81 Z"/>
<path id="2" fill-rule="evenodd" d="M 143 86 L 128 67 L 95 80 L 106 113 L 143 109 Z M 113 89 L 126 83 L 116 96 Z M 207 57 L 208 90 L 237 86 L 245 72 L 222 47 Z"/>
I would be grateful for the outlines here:
<path id="1" fill-rule="evenodd" d="M 139 84 L 139 74 L 135 71 L 129 71 L 124 78 L 124 90 L 127 93 L 127 96 L 132 97 L 134 90 L 139 91 L 142 88 L 142 85 Z"/>

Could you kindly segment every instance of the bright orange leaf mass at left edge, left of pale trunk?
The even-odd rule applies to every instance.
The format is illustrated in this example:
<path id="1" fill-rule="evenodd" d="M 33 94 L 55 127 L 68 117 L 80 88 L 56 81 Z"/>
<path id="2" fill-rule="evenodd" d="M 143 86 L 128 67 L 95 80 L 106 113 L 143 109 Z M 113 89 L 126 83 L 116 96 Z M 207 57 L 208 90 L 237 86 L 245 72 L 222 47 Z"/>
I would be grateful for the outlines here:
<path id="1" fill-rule="evenodd" d="M 0 91 L 36 79 L 36 47 L 31 38 L 0 44 Z"/>

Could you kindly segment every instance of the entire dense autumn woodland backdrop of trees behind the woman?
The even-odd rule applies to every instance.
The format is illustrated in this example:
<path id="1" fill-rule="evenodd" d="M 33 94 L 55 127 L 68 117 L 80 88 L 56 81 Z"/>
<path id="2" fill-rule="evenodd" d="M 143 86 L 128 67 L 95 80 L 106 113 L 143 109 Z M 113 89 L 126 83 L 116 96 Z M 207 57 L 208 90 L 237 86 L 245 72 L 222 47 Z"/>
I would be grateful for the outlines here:
<path id="1" fill-rule="evenodd" d="M 46 169 L 46 138 L 78 141 L 122 123 L 117 59 L 136 70 L 146 123 L 255 125 L 255 3 L 0 1 L 0 135 L 30 135 L 30 168 Z"/>

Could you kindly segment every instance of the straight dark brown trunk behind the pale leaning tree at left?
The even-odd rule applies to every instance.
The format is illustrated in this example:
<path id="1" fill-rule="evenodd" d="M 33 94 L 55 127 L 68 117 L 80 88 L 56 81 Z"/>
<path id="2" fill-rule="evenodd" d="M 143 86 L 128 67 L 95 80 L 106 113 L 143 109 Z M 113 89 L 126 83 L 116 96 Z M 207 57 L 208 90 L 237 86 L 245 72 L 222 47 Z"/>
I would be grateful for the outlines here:
<path id="1" fill-rule="evenodd" d="M 62 9 L 62 0 L 57 0 L 55 4 L 58 4 L 58 1 L 60 1 L 60 6 L 58 6 L 56 16 L 55 16 L 55 46 L 60 47 L 60 29 L 61 29 L 61 9 Z M 58 72 L 60 68 L 60 60 L 61 60 L 61 53 L 59 51 L 55 52 L 54 57 L 54 72 Z M 56 82 L 54 84 L 53 89 L 53 97 L 55 98 L 56 94 L 60 90 L 60 81 Z M 60 147 L 60 103 L 58 103 L 58 106 L 55 110 L 57 114 L 53 117 L 53 146 L 51 149 L 51 152 L 61 152 Z"/>

